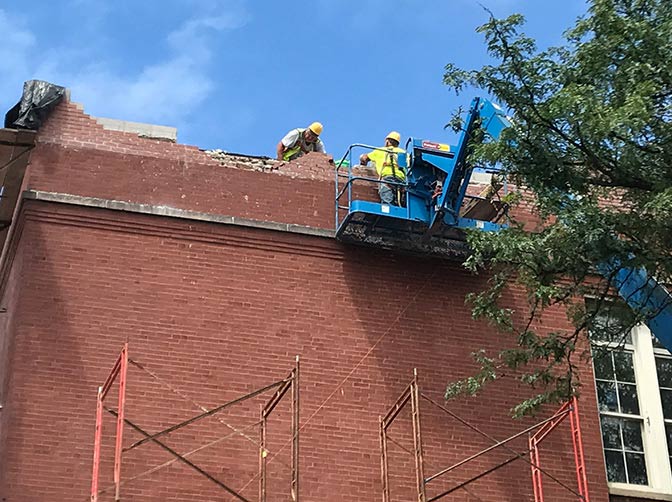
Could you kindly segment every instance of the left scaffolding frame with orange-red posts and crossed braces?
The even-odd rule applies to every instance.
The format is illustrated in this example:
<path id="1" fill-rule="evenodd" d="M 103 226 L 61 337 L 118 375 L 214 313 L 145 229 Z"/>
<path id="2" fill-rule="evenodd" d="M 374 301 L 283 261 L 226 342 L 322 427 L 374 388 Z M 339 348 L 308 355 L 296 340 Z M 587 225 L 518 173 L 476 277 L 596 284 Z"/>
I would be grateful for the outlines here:
<path id="1" fill-rule="evenodd" d="M 277 405 L 283 400 L 283 398 L 286 396 L 288 392 L 291 393 L 291 482 L 290 482 L 290 493 L 291 493 L 291 500 L 293 502 L 299 502 L 299 432 L 300 432 L 300 427 L 299 427 L 299 356 L 296 356 L 295 360 L 295 366 L 292 368 L 292 370 L 289 373 L 289 376 L 282 380 L 278 380 L 276 382 L 273 382 L 269 385 L 266 385 L 264 387 L 259 387 L 255 389 L 254 391 L 245 394 L 243 396 L 237 397 L 231 401 L 227 401 L 226 403 L 223 403 L 215 408 L 212 408 L 210 410 L 203 409 L 203 413 L 200 413 L 199 415 L 196 415 L 192 418 L 189 418 L 187 420 L 184 420 L 178 424 L 172 425 L 166 429 L 163 429 L 159 432 L 155 433 L 149 433 L 137 424 L 131 422 L 128 418 L 125 416 L 125 405 L 126 405 L 126 384 L 128 380 L 128 366 L 129 363 L 135 364 L 136 366 L 142 368 L 142 366 L 133 361 L 132 359 L 129 358 L 128 356 L 128 342 L 126 342 L 117 357 L 117 360 L 114 363 L 114 366 L 112 367 L 112 370 L 110 371 L 107 379 L 105 380 L 104 384 L 100 387 L 98 387 L 98 393 L 97 393 L 97 398 L 96 398 L 96 426 L 95 426 L 95 434 L 94 434 L 94 448 L 93 448 L 93 472 L 91 476 L 91 502 L 98 502 L 98 496 L 101 493 L 106 492 L 107 490 L 100 490 L 99 489 L 99 472 L 100 472 L 100 458 L 101 458 L 101 445 L 102 445 L 102 428 L 103 428 L 103 411 L 107 411 L 111 415 L 113 415 L 116 418 L 116 432 L 115 432 L 115 450 L 114 450 L 114 500 L 115 502 L 118 502 L 121 500 L 121 485 L 122 480 L 121 480 L 121 461 L 122 461 L 122 454 L 132 450 L 133 448 L 136 448 L 146 442 L 152 442 L 156 444 L 157 446 L 160 446 L 162 449 L 170 453 L 175 457 L 175 460 L 178 460 L 185 465 L 191 467 L 193 470 L 204 476 L 205 478 L 209 479 L 216 485 L 218 485 L 220 488 L 223 490 L 227 491 L 230 495 L 234 496 L 236 499 L 240 500 L 241 502 L 250 502 L 248 499 L 243 497 L 239 492 L 234 490 L 233 488 L 229 487 L 228 485 L 224 484 L 222 481 L 219 479 L 215 478 L 205 470 L 203 470 L 201 467 L 198 465 L 194 464 L 190 460 L 186 458 L 189 453 L 181 455 L 162 441 L 160 441 L 159 438 L 160 436 L 169 434 L 170 432 L 176 431 L 178 429 L 181 429 L 182 427 L 185 427 L 189 424 L 192 424 L 202 418 L 212 416 L 215 413 L 218 413 L 222 411 L 225 408 L 228 408 L 232 405 L 242 403 L 243 401 L 246 401 L 248 399 L 251 399 L 253 397 L 256 397 L 260 394 L 263 394 L 264 392 L 268 392 L 272 389 L 276 389 L 274 394 L 271 396 L 271 398 L 261 406 L 261 416 L 260 420 L 252 424 L 251 426 L 260 426 L 260 441 L 256 445 L 259 448 L 259 501 L 260 502 L 266 502 L 266 481 L 267 481 L 267 472 L 266 472 L 266 457 L 268 456 L 268 449 L 266 448 L 266 443 L 267 443 L 267 425 L 268 425 L 268 419 L 270 418 L 273 410 L 277 407 Z M 144 368 L 142 368 L 144 369 Z M 117 402 L 117 409 L 111 409 L 105 406 L 105 397 L 109 393 L 110 389 L 112 388 L 113 384 L 116 381 L 119 381 L 119 395 L 118 395 L 118 402 Z M 132 429 L 135 431 L 139 432 L 141 435 L 144 437 L 132 445 L 128 446 L 127 448 L 123 448 L 123 432 L 124 432 L 124 425 L 130 426 Z M 231 426 L 229 426 L 232 428 Z M 247 428 L 247 427 L 246 427 Z M 245 429 L 246 429 L 245 428 Z M 232 428 L 233 429 L 233 428 Z M 236 434 L 242 434 L 240 431 L 237 431 L 233 429 Z M 228 437 L 232 437 L 234 434 L 229 434 L 225 436 L 223 439 L 226 439 Z M 213 444 L 213 443 L 211 443 Z M 205 448 L 210 445 L 206 445 L 202 448 Z M 199 449 L 202 449 L 199 448 Z M 163 464 L 161 466 L 158 466 L 157 468 L 153 468 L 149 472 L 155 472 L 163 467 L 166 467 L 169 465 L 171 462 L 168 462 L 166 464 Z"/>

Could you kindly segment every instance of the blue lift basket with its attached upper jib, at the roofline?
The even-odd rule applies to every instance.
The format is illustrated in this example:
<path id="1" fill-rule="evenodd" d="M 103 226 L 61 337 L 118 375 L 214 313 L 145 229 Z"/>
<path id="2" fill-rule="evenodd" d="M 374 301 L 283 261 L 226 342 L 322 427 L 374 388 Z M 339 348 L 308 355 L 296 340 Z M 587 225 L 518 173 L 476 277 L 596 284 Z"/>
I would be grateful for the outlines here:
<path id="1" fill-rule="evenodd" d="M 409 139 L 406 153 L 397 155 L 397 165 L 406 173 L 405 182 L 398 183 L 405 192 L 405 207 L 359 198 L 357 188 L 361 193 L 361 188 L 370 189 L 381 181 L 356 172 L 353 152 L 376 148 L 350 146 L 336 169 L 336 237 L 344 242 L 423 254 L 464 253 L 461 230 L 499 230 L 497 222 L 506 210 L 505 204 L 489 196 L 467 194 L 473 170 L 467 163 L 469 139 L 479 126 L 486 135 L 496 138 L 509 125 L 499 106 L 475 98 L 456 146 Z M 343 172 L 344 165 L 347 173 Z"/>

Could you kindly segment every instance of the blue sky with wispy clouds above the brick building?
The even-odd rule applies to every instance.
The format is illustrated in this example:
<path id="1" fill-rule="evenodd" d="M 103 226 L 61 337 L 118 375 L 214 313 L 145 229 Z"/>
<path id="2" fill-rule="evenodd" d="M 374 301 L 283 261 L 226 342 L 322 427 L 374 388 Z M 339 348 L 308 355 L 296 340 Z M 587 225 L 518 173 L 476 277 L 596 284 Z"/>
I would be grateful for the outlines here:
<path id="1" fill-rule="evenodd" d="M 480 0 L 525 15 L 557 45 L 584 0 Z M 0 111 L 24 80 L 69 87 L 95 116 L 170 125 L 178 141 L 274 156 L 294 127 L 324 123 L 329 153 L 391 129 L 444 131 L 471 95 L 442 84 L 453 62 L 488 62 L 476 0 L 2 0 Z"/>

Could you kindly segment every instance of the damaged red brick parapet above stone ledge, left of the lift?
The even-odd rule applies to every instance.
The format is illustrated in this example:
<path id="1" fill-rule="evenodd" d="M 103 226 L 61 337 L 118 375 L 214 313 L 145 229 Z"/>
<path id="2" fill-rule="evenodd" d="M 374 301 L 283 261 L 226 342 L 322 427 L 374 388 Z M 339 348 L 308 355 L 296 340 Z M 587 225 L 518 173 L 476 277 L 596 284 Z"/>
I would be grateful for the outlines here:
<path id="1" fill-rule="evenodd" d="M 333 164 L 322 154 L 290 163 L 216 156 L 107 130 L 70 102 L 54 110 L 37 143 L 31 190 L 334 228 Z"/>

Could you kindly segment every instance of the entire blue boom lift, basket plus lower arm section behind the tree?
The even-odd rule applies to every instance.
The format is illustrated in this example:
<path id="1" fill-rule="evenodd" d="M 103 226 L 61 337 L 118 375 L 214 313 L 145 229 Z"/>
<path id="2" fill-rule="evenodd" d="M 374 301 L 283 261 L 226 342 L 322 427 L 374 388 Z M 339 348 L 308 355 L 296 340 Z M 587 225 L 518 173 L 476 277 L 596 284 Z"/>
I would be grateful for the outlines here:
<path id="1" fill-rule="evenodd" d="M 350 146 L 336 168 L 336 238 L 420 254 L 466 256 L 463 229 L 497 231 L 503 228 L 499 221 L 506 213 L 506 204 L 492 197 L 496 189 L 481 196 L 467 194 L 473 172 L 467 159 L 470 140 L 477 128 L 487 141 L 488 137 L 498 138 L 510 125 L 499 106 L 475 98 L 457 145 L 409 139 L 406 152 L 397 155 L 397 165 L 406 173 L 406 180 L 398 183 L 405 192 L 404 206 L 362 198 L 367 196 L 366 187 L 371 198 L 370 187 L 381 181 L 353 167 L 353 152 L 376 148 Z M 633 310 L 646 315 L 651 332 L 672 352 L 670 292 L 643 269 L 616 263 L 597 268 Z"/>

